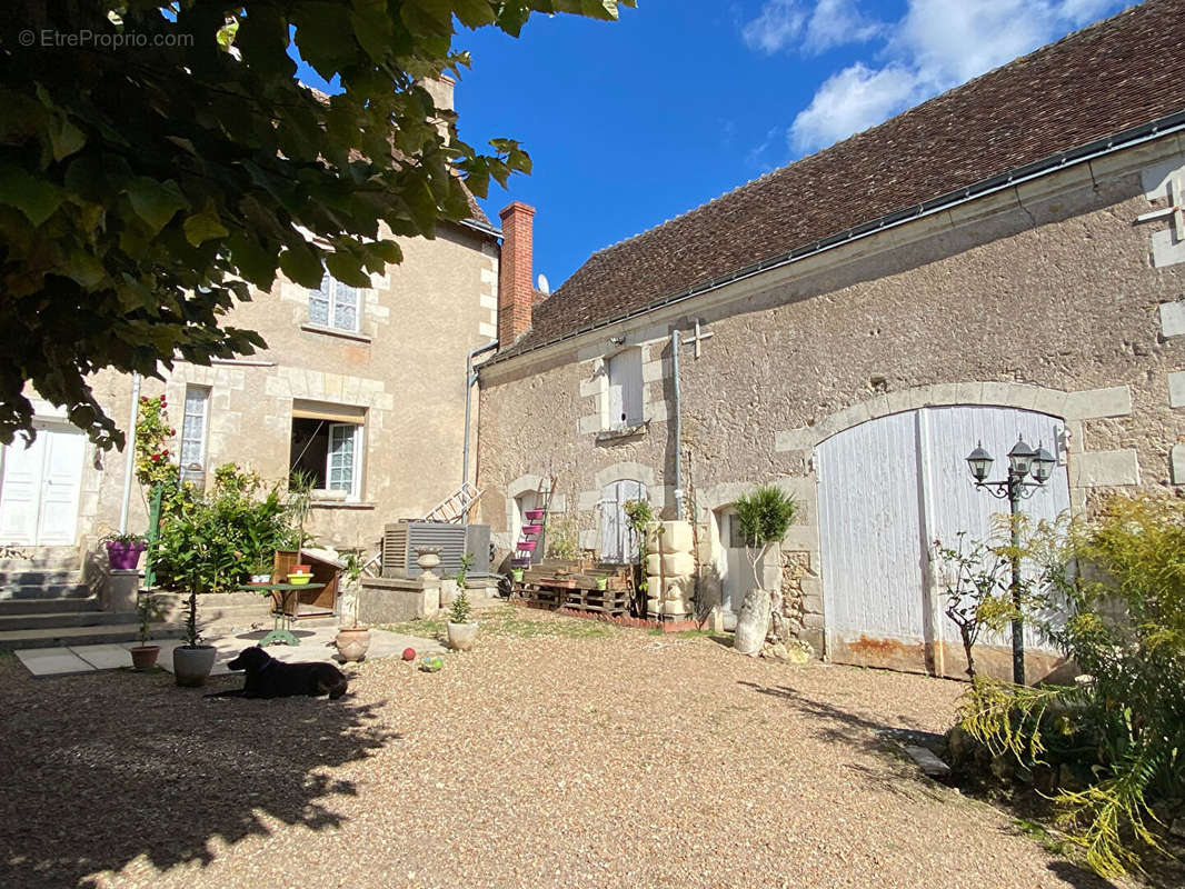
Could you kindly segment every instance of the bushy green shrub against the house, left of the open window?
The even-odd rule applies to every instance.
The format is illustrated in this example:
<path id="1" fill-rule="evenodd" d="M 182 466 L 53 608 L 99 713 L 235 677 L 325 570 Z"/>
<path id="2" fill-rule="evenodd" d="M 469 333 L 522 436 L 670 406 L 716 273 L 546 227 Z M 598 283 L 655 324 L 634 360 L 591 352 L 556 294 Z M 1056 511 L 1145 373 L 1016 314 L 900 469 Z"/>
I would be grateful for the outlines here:
<path id="1" fill-rule="evenodd" d="M 153 550 L 158 583 L 230 591 L 248 581 L 252 568 L 269 564 L 277 549 L 295 546 L 299 532 L 278 487 L 262 490 L 258 475 L 233 463 L 214 471 L 213 487 L 205 493 L 166 485 Z"/>

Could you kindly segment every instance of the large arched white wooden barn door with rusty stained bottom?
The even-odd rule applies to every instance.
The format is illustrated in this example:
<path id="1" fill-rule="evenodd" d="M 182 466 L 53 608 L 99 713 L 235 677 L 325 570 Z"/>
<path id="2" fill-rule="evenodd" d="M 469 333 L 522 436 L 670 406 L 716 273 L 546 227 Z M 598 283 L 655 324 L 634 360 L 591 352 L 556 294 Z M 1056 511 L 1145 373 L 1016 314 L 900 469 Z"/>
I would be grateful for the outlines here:
<path id="1" fill-rule="evenodd" d="M 1057 453 L 1062 422 L 1011 408 L 924 408 L 861 423 L 819 446 L 824 616 L 832 660 L 960 673 L 959 632 L 943 614 L 931 543 L 954 543 L 959 531 L 968 539 L 991 535 L 992 517 L 1007 512 L 1007 501 L 975 490 L 966 456 L 982 441 L 997 459 L 992 478 L 1003 478 L 1018 434 Z M 1064 467 L 1055 467 L 1046 488 L 1024 504 L 1035 520 L 1069 509 Z"/>

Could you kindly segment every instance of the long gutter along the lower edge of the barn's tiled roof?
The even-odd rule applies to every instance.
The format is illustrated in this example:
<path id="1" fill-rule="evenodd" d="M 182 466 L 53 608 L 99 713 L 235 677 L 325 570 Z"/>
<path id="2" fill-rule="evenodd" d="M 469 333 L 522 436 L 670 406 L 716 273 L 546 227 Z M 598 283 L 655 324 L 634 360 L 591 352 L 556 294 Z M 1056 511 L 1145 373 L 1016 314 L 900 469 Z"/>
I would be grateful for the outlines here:
<path id="1" fill-rule="evenodd" d="M 667 294 L 666 296 L 660 296 L 659 299 L 653 300 L 639 308 L 623 312 L 619 315 L 611 315 L 600 321 L 594 321 L 590 325 L 585 325 L 584 327 L 565 333 L 562 337 L 556 337 L 545 343 L 540 343 L 537 346 L 525 348 L 521 352 L 513 352 L 511 354 L 502 356 L 495 354 L 493 358 L 482 362 L 478 370 L 480 372 L 482 367 L 492 367 L 495 364 L 501 364 L 502 362 L 510 362 L 514 358 L 538 352 L 540 348 L 547 348 L 549 346 L 555 346 L 559 343 L 576 339 L 585 333 L 591 333 L 592 331 L 598 331 L 641 315 L 647 315 L 660 308 L 673 306 L 696 296 L 702 296 L 705 293 L 718 290 L 722 287 L 726 287 L 736 283 L 737 281 L 752 277 L 754 275 L 760 275 L 771 269 L 783 268 L 795 262 L 801 262 L 811 256 L 818 256 L 827 250 L 833 250 L 837 247 L 850 244 L 853 241 L 859 241 L 871 235 L 895 229 L 898 225 L 904 225 L 914 222 L 915 219 L 922 219 L 927 216 L 933 216 L 944 210 L 959 206 L 960 204 L 967 204 L 988 194 L 994 194 L 995 192 L 1000 192 L 1006 188 L 1013 188 L 1017 185 L 1033 179 L 1039 179 L 1043 175 L 1056 173 L 1058 171 L 1077 166 L 1078 164 L 1087 164 L 1097 158 L 1103 158 L 1108 154 L 1114 154 L 1115 152 L 1125 151 L 1127 148 L 1151 142 L 1157 139 L 1162 139 L 1166 135 L 1180 132 L 1185 132 L 1185 110 L 1170 114 L 1165 117 L 1159 117 L 1151 123 L 1142 123 L 1139 127 L 1125 129 L 1112 136 L 1096 139 L 1095 141 L 1078 146 L 1077 148 L 1070 148 L 1069 151 L 1051 154 L 1048 158 L 1043 158 L 1042 160 L 1037 160 L 1031 164 L 1025 164 L 1024 166 L 1011 170 L 1007 173 L 998 173 L 997 175 L 988 177 L 987 179 L 980 179 L 978 183 L 963 186 L 962 188 L 956 188 L 955 191 L 947 192 L 946 194 L 931 198 L 921 204 L 915 204 L 905 207 L 904 210 L 896 210 L 891 213 L 885 213 L 876 219 L 871 219 L 870 222 L 861 223 L 860 225 L 856 225 L 834 235 L 828 235 L 825 238 L 794 248 L 793 250 L 780 254 L 779 256 L 751 263 L 735 271 L 692 284 L 686 289 L 677 290 Z"/>

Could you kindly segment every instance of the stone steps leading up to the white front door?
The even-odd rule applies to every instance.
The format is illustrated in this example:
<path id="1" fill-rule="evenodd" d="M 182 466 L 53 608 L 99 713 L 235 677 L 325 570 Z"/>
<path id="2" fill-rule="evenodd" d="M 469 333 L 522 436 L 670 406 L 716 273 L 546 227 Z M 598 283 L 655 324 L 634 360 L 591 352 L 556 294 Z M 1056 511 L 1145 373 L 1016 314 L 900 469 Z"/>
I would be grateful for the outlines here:
<path id="1" fill-rule="evenodd" d="M 0 559 L 0 651 L 128 642 L 137 631 L 135 612 L 102 609 L 73 548 Z M 177 637 L 175 627 L 153 627 L 154 639 Z"/>

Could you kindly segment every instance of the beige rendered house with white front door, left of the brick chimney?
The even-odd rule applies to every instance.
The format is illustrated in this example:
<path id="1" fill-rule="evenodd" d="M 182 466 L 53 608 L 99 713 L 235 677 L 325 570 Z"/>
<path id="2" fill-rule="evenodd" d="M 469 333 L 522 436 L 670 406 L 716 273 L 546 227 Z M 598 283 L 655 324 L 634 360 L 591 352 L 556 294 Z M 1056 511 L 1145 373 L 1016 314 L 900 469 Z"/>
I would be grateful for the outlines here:
<path id="1" fill-rule="evenodd" d="M 438 107 L 451 107 L 451 81 L 429 87 Z M 164 384 L 145 380 L 141 394 L 166 396 L 182 475 L 205 484 L 233 462 L 273 482 L 305 469 L 316 488 L 315 537 L 370 550 L 384 523 L 423 516 L 461 484 L 466 453 L 472 480 L 467 358 L 495 334 L 500 237 L 475 200 L 472 210 L 433 241 L 401 239 L 404 262 L 371 288 L 326 276 L 319 290 L 277 279 L 256 293 L 230 322 L 258 331 L 267 350 L 178 363 Z M 107 372 L 92 385 L 126 429 L 132 378 Z M 0 542 L 76 563 L 120 526 L 127 492 L 128 529 L 146 527 L 147 492 L 128 480 L 126 454 L 97 452 L 45 402 L 37 426 L 30 449 L 5 448 Z"/>

